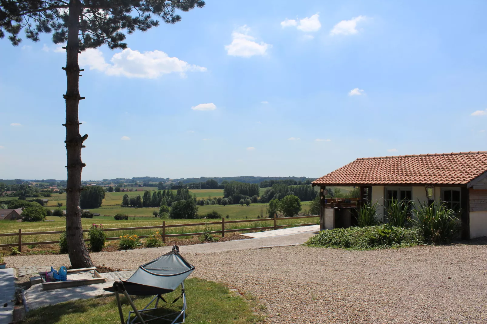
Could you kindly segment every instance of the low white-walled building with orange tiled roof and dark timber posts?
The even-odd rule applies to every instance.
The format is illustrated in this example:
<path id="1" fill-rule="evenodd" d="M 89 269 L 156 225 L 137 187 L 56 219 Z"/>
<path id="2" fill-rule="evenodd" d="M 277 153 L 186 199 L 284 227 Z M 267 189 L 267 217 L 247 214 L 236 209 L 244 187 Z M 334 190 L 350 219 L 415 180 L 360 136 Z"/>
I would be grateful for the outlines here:
<path id="1" fill-rule="evenodd" d="M 320 187 L 320 229 L 348 227 L 356 208 L 392 199 L 439 201 L 457 211 L 462 238 L 487 236 L 487 151 L 356 159 L 313 181 Z M 327 186 L 360 187 L 360 198 L 326 198 Z"/>

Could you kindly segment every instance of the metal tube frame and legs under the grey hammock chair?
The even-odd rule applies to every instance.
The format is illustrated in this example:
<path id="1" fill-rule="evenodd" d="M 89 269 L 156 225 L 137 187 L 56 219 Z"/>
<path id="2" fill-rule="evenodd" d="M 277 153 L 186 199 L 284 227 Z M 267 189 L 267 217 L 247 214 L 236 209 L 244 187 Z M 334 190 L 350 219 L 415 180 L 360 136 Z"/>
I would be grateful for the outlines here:
<path id="1" fill-rule="evenodd" d="M 147 304 L 147 306 L 145 306 L 143 309 L 138 310 L 137 307 L 135 306 L 135 304 L 133 303 L 132 299 L 130 298 L 130 295 L 127 293 L 127 290 L 125 289 L 125 287 L 124 287 L 124 285 L 123 285 L 123 283 L 121 281 L 115 281 L 113 283 L 113 287 L 116 288 L 115 289 L 115 298 L 117 300 L 118 314 L 120 315 L 120 322 L 121 322 L 121 324 L 145 324 L 147 322 L 154 321 L 154 320 L 158 320 L 158 319 L 161 319 L 161 320 L 164 320 L 164 321 L 168 321 L 168 322 L 170 322 L 170 324 L 181 324 L 181 323 L 185 323 L 187 305 L 186 305 L 186 292 L 185 292 L 185 288 L 184 288 L 184 281 L 181 283 L 181 296 L 183 297 L 183 308 L 179 312 L 174 312 L 174 313 L 166 314 L 166 315 L 163 315 L 163 316 L 154 316 L 154 315 L 146 314 L 145 313 L 145 312 L 148 312 L 150 310 L 157 309 L 157 305 L 159 303 L 159 300 L 163 300 L 164 301 L 164 298 L 160 294 L 154 296 L 154 298 L 152 298 L 152 300 L 149 302 L 149 304 Z M 125 319 L 124 319 L 124 316 L 123 316 L 123 312 L 122 312 L 122 305 L 120 304 L 120 295 L 119 295 L 120 292 L 122 292 L 125 295 L 125 298 L 127 298 L 127 301 L 129 302 L 130 306 L 133 309 L 133 311 L 132 310 L 129 311 L 129 317 L 127 318 L 127 322 L 125 322 Z M 179 299 L 179 297 L 177 299 Z M 155 301 L 154 307 L 148 308 L 148 307 L 150 307 L 150 305 L 154 301 Z M 131 320 L 132 313 L 135 314 L 135 317 Z M 178 314 L 178 315 L 176 316 L 176 318 L 174 320 L 171 320 L 171 319 L 168 318 L 168 317 L 170 317 L 172 315 L 176 315 L 176 314 Z M 146 320 L 144 320 L 143 316 L 146 316 L 146 317 L 149 317 L 149 318 L 146 319 Z M 180 318 L 181 318 L 181 320 L 179 320 Z M 136 323 L 135 321 L 137 319 L 140 322 L 137 322 Z M 179 322 L 178 322 L 178 320 L 179 320 Z"/>

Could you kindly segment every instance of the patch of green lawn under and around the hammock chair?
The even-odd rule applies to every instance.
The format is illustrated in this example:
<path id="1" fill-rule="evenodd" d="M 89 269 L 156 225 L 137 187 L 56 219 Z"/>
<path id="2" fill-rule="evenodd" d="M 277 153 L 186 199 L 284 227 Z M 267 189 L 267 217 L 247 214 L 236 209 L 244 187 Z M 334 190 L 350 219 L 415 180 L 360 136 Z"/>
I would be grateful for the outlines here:
<path id="1" fill-rule="evenodd" d="M 251 324 L 262 323 L 262 317 L 253 315 L 251 307 L 255 303 L 242 296 L 230 292 L 227 287 L 199 278 L 185 281 L 187 297 L 186 323 L 190 324 Z M 181 290 L 164 295 L 170 303 Z M 134 303 L 142 309 L 153 296 L 135 298 Z M 122 295 L 122 309 L 127 321 L 131 307 Z M 159 309 L 154 314 L 169 314 L 181 309 L 182 299 L 175 304 L 159 303 Z M 25 324 L 106 324 L 120 323 L 115 297 L 99 297 L 66 302 L 54 306 L 46 306 L 31 310 L 29 316 L 22 322 Z M 152 323 L 152 322 L 150 322 Z M 158 322 L 159 323 L 159 322 Z M 169 322 L 168 322 L 169 323 Z"/>

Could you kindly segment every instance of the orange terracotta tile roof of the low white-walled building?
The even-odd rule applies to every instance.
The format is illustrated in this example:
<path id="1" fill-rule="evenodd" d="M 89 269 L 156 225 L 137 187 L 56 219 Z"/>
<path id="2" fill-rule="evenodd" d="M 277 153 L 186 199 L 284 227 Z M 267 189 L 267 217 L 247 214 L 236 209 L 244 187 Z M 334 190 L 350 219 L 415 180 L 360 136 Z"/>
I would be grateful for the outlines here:
<path id="1" fill-rule="evenodd" d="M 326 185 L 466 184 L 487 172 L 487 151 L 361 158 L 313 181 Z"/>

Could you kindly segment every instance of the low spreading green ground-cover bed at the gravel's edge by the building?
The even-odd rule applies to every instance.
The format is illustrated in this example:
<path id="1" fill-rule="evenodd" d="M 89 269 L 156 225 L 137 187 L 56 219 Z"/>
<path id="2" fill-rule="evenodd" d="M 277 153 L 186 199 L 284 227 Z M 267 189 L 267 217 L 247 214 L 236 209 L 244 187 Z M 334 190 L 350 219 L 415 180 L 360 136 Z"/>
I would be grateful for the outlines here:
<path id="1" fill-rule="evenodd" d="M 370 250 L 413 246 L 422 244 L 423 241 L 423 232 L 418 227 L 405 229 L 383 224 L 321 231 L 305 244 L 325 248 Z"/>

